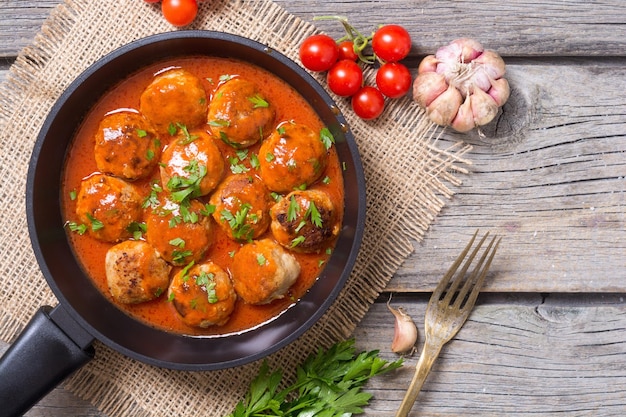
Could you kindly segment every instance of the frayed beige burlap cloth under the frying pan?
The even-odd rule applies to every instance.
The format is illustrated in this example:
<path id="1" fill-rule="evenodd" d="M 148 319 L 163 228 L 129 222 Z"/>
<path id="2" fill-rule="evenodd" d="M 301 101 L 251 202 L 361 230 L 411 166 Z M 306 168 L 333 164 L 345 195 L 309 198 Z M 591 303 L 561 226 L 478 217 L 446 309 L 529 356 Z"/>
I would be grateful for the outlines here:
<path id="1" fill-rule="evenodd" d="M 316 31 L 267 0 L 201 3 L 192 29 L 244 35 L 297 60 Z M 25 216 L 28 161 L 54 101 L 104 54 L 147 35 L 175 30 L 157 7 L 138 0 L 67 0 L 25 48 L 0 86 L 0 338 L 12 342 L 37 308 L 56 305 L 30 247 Z M 371 79 L 372 73 L 367 73 Z M 468 146 L 438 140 L 438 129 L 410 99 L 396 100 L 376 122 L 339 100 L 357 139 L 367 181 L 367 223 L 356 268 L 330 311 L 269 358 L 290 378 L 318 347 L 350 336 L 368 307 L 413 251 L 458 184 Z M 381 347 L 383 348 L 383 347 Z M 214 372 L 144 365 L 96 342 L 96 358 L 66 387 L 111 416 L 223 416 L 242 397 L 259 363 Z"/>

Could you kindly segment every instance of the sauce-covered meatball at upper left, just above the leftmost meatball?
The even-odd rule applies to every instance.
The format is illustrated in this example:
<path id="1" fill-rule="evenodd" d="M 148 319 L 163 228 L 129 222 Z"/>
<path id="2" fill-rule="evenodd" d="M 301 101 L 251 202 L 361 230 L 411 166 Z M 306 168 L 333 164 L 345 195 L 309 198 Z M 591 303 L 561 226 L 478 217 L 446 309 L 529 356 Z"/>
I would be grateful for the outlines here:
<path id="1" fill-rule="evenodd" d="M 161 157 L 161 142 L 154 129 L 136 112 L 109 113 L 95 135 L 98 169 L 127 180 L 149 176 Z"/>

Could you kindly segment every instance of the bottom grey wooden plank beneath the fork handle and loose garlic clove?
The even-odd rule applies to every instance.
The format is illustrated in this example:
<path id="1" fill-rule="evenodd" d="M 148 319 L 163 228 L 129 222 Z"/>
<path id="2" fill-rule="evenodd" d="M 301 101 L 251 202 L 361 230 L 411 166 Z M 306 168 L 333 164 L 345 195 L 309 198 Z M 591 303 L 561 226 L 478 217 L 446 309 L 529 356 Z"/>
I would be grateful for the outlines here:
<path id="1" fill-rule="evenodd" d="M 626 307 L 596 300 L 542 301 L 539 296 L 486 302 L 475 308 L 458 335 L 444 346 L 426 380 L 414 416 L 623 415 Z M 425 303 L 394 298 L 423 337 Z M 578 305 L 576 305 L 578 304 Z M 372 306 L 356 332 L 357 346 L 389 352 L 392 316 L 383 302 Z M 421 351 L 423 341 L 419 343 Z M 375 378 L 366 415 L 392 417 L 419 354 L 399 371 Z"/>

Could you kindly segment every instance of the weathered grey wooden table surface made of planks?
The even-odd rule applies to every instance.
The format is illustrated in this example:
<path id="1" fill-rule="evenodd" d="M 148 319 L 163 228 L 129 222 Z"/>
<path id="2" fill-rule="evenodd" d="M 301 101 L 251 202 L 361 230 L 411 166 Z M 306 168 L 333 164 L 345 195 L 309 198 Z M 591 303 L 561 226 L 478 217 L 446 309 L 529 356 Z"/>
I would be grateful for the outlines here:
<path id="1" fill-rule="evenodd" d="M 446 133 L 473 145 L 470 173 L 388 286 L 422 331 L 429 292 L 474 230 L 504 236 L 484 293 L 412 415 L 625 415 L 623 0 L 276 2 L 305 20 L 342 14 L 361 29 L 404 25 L 413 71 L 463 36 L 507 63 L 511 99 L 486 137 Z M 0 80 L 58 3 L 0 0 Z M 334 22 L 318 26 L 341 35 Z M 360 348 L 389 353 L 388 296 L 358 326 Z M 372 381 L 366 415 L 394 415 L 416 361 Z M 102 416 L 63 388 L 27 415 Z"/>

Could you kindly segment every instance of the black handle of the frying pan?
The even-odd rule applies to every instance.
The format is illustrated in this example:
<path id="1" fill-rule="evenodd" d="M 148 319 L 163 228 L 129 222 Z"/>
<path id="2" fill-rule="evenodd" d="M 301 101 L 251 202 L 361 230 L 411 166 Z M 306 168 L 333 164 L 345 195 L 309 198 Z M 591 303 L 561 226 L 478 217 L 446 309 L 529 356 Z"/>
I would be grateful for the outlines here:
<path id="1" fill-rule="evenodd" d="M 41 307 L 0 358 L 0 417 L 21 416 L 92 359 L 92 341 L 62 306 Z"/>

